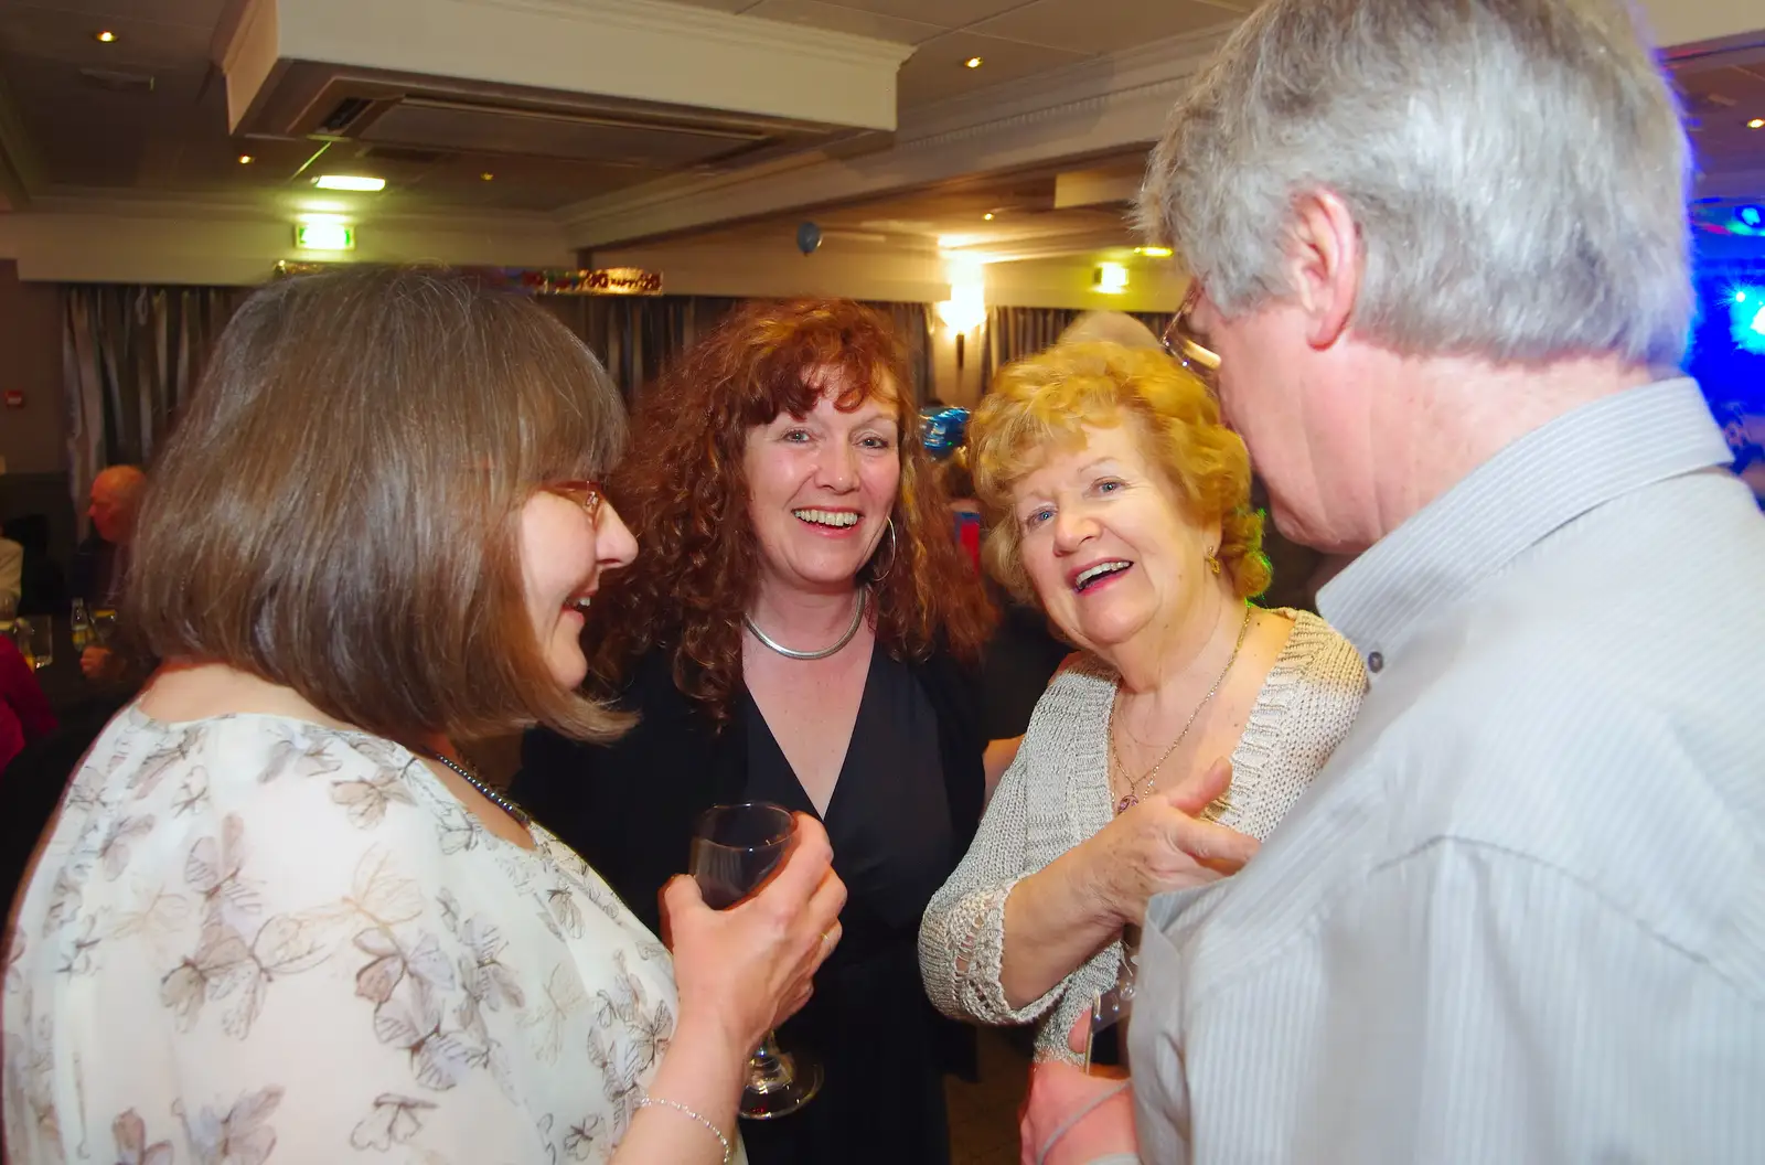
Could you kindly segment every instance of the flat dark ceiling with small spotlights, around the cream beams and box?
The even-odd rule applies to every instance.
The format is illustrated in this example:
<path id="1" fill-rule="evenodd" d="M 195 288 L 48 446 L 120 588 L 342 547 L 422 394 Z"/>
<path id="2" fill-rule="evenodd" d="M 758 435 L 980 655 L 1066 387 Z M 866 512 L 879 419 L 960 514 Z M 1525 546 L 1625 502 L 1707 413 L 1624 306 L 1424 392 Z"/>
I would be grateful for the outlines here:
<path id="1" fill-rule="evenodd" d="M 1228 25 L 1255 0 L 676 0 L 754 21 L 856 34 L 913 46 L 898 72 L 898 108 L 1022 83 L 1161 37 Z M 304 136 L 235 136 L 226 78 L 212 64 L 217 30 L 242 0 L 0 0 L 0 147 L 16 113 L 21 166 L 34 196 L 101 194 L 275 205 L 327 168 L 371 168 L 388 180 L 376 208 L 549 214 L 664 177 L 694 159 L 597 157 L 584 150 L 409 150 L 397 120 L 378 143 Z M 111 30 L 113 42 L 95 34 Z M 965 67 L 980 58 L 978 67 Z M 1701 192 L 1724 203 L 1765 201 L 1765 49 L 1675 62 L 1703 168 Z M 7 95 L 11 101 L 5 101 Z M 409 113 L 409 111 L 406 111 Z M 408 116 L 406 125 L 418 125 Z M 392 134 L 388 138 L 388 134 Z M 374 134 L 371 134 L 374 136 Z M 242 164 L 240 157 L 252 161 Z M 928 191 L 817 208 L 830 237 L 973 249 L 988 258 L 1038 258 L 1126 245 L 1121 180 L 1138 152 L 983 175 Z M 1114 177 L 1103 198 L 1061 196 L 1063 173 Z M 1108 185 L 1108 184 L 1105 184 Z M 992 214 L 994 219 L 985 219 Z M 791 215 L 791 222 L 803 215 Z M 778 231 L 784 219 L 729 228 Z"/>

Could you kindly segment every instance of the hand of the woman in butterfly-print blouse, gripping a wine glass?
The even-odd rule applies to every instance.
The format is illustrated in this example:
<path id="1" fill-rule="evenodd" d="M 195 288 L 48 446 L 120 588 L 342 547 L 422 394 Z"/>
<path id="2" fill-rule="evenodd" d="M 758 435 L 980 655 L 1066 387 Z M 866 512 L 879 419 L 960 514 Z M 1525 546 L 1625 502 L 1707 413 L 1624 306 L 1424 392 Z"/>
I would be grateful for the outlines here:
<path id="1" fill-rule="evenodd" d="M 699 877 L 676 877 L 662 890 L 681 1022 L 704 1017 L 743 1052 L 766 1050 L 771 1029 L 808 1003 L 814 974 L 840 939 L 845 884 L 833 874 L 826 830 L 794 814 L 794 828 L 777 840 L 770 856 L 736 860 L 717 876 L 708 854 L 695 851 Z M 748 877 L 752 884 L 741 884 Z M 706 886 L 711 897 L 734 904 L 711 909 Z"/>

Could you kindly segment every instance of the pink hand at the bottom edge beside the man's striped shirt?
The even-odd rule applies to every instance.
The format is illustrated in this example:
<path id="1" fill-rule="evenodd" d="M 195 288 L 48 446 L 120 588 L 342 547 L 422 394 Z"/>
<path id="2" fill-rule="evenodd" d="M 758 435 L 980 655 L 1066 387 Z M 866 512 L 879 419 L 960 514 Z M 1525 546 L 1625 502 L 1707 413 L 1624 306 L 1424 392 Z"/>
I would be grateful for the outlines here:
<path id="1" fill-rule="evenodd" d="M 1084 1052 L 1091 1017 L 1080 1015 L 1066 1047 Z M 1063 1061 L 1041 1061 L 1029 1073 L 1029 1094 L 1018 1114 L 1022 1165 L 1084 1165 L 1138 1151 L 1133 1133 L 1133 1091 L 1128 1073 L 1085 1071 Z M 1063 1131 L 1064 1130 L 1064 1131 Z"/>

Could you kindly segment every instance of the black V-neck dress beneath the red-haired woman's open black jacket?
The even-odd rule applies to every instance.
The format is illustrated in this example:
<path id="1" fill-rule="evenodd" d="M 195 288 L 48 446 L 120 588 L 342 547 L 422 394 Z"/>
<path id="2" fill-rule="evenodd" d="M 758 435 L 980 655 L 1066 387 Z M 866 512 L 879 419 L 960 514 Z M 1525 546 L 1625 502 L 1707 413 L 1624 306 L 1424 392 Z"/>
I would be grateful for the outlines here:
<path id="1" fill-rule="evenodd" d="M 752 695 L 747 796 L 815 814 Z M 755 1165 L 950 1160 L 937 1020 L 920 981 L 920 916 L 960 858 L 950 823 L 937 715 L 907 671 L 874 651 L 840 778 L 817 814 L 845 883 L 838 950 L 815 994 L 778 1031 L 812 1052 L 821 1094 L 789 1117 L 743 1121 Z"/>

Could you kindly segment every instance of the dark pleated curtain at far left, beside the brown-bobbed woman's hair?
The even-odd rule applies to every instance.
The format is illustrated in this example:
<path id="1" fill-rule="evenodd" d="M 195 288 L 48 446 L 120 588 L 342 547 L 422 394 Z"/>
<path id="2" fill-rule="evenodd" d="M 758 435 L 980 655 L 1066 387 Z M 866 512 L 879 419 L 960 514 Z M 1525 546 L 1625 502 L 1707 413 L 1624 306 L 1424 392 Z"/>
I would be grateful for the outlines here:
<path id="1" fill-rule="evenodd" d="M 67 288 L 62 385 L 81 535 L 92 478 L 106 466 L 152 461 L 247 295 L 251 288 Z"/>

